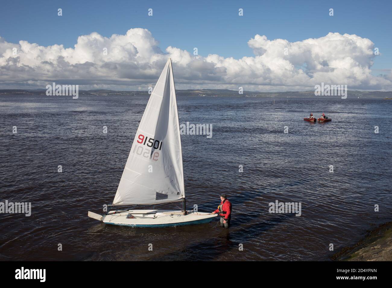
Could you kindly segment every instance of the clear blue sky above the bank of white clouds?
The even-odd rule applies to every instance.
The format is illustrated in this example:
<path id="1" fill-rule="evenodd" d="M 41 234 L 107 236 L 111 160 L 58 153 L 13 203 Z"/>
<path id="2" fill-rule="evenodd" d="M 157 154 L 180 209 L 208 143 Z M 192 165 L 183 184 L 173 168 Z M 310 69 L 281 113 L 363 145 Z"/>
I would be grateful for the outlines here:
<path id="1" fill-rule="evenodd" d="M 170 4 L 169 4 L 170 3 Z M 146 28 L 165 51 L 173 46 L 202 56 L 254 56 L 247 42 L 256 34 L 289 42 L 329 32 L 357 34 L 374 42 L 381 55 L 372 74 L 392 67 L 392 2 L 371 1 L 3 1 L 0 36 L 18 43 L 74 47 L 80 35 L 125 34 Z M 63 16 L 57 16 L 62 8 Z M 147 10 L 153 9 L 153 16 Z M 243 8 L 244 16 L 238 16 Z M 328 10 L 334 9 L 334 16 Z M 386 72 L 382 71 L 386 69 Z"/>

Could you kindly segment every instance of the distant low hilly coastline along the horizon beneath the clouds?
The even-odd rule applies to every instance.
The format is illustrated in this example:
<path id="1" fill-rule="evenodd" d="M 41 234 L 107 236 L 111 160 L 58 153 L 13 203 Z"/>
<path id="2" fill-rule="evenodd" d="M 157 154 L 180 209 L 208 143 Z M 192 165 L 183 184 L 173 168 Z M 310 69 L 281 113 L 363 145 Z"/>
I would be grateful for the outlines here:
<path id="1" fill-rule="evenodd" d="M 314 91 L 254 92 L 229 89 L 176 90 L 177 96 L 199 97 L 260 97 L 260 98 L 340 98 L 339 96 L 315 96 Z M 46 96 L 46 89 L 2 89 L 0 96 L 37 95 Z M 115 91 L 106 89 L 79 90 L 80 96 L 149 96 L 148 91 Z M 348 91 L 348 98 L 392 100 L 392 91 Z"/>

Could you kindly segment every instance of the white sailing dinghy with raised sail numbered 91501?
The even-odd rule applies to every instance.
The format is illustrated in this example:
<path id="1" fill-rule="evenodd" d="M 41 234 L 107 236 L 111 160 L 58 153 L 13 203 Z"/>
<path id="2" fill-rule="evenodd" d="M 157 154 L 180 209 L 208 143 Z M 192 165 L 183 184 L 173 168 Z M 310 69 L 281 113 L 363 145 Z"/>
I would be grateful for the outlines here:
<path id="1" fill-rule="evenodd" d="M 182 201 L 182 210 L 118 210 L 118 206 Z M 112 210 L 88 216 L 105 224 L 168 227 L 208 223 L 217 214 L 186 210 L 180 122 L 171 59 L 152 90 L 118 184 Z M 108 209 L 109 210 L 109 209 Z"/>

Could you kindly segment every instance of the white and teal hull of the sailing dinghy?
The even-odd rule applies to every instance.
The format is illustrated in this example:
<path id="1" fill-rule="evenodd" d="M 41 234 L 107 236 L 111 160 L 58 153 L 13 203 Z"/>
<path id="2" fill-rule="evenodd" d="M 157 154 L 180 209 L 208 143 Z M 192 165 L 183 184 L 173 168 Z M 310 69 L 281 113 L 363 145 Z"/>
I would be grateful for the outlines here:
<path id="1" fill-rule="evenodd" d="M 125 212 L 109 212 L 103 216 L 103 223 L 131 227 L 171 227 L 209 223 L 217 214 L 188 211 L 183 215 L 181 211 L 173 210 L 128 210 Z M 113 213 L 113 214 L 112 214 Z M 131 214 L 134 218 L 129 218 Z"/>

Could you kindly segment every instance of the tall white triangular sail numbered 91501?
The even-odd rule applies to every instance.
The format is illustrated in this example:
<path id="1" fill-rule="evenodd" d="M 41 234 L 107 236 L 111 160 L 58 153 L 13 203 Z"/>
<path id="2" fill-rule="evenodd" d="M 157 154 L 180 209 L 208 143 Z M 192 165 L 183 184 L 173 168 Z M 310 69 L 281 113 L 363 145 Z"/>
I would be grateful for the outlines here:
<path id="1" fill-rule="evenodd" d="M 180 123 L 171 59 L 151 93 L 113 205 L 185 198 Z"/>

